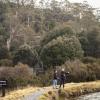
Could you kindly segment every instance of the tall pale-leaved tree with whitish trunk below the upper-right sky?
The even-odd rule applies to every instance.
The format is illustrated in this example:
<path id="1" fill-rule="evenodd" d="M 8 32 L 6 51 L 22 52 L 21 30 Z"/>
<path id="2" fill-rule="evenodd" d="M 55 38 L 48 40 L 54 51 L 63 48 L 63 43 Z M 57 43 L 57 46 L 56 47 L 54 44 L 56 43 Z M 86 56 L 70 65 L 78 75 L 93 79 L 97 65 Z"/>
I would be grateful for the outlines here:
<path id="1" fill-rule="evenodd" d="M 98 26 L 96 16 L 94 15 L 94 8 L 88 2 L 74 3 L 71 9 L 70 13 L 74 20 L 70 21 L 69 24 L 76 33 L 82 31 L 88 32 Z"/>

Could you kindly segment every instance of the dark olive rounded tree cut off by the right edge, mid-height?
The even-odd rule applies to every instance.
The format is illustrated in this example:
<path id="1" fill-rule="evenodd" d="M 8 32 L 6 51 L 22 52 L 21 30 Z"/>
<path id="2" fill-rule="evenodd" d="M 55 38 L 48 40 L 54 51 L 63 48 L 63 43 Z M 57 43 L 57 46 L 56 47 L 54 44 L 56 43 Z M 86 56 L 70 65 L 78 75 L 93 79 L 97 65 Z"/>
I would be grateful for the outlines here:
<path id="1" fill-rule="evenodd" d="M 93 30 L 89 32 L 87 34 L 87 38 L 89 41 L 89 55 L 93 57 L 100 57 L 100 31 Z"/>

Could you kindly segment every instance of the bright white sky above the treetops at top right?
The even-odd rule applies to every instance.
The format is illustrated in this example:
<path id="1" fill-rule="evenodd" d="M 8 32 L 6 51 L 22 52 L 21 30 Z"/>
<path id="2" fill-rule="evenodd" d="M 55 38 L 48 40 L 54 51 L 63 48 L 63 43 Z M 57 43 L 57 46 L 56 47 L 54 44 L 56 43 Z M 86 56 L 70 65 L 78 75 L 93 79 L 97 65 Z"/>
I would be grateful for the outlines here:
<path id="1" fill-rule="evenodd" d="M 83 2 L 84 0 L 69 0 L 70 2 Z M 87 2 L 94 8 L 100 8 L 100 0 L 87 0 Z"/>

